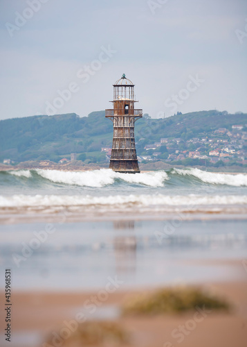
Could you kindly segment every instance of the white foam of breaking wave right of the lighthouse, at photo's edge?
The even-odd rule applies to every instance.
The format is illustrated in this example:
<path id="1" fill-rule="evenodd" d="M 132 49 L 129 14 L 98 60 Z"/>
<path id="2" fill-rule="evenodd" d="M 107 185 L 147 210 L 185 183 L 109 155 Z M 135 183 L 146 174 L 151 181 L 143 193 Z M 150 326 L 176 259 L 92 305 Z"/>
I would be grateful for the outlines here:
<path id="1" fill-rule="evenodd" d="M 244 174 L 217 174 L 199 169 L 173 169 L 173 171 L 183 176 L 194 176 L 205 183 L 212 183 L 214 185 L 247 186 L 247 175 Z"/>

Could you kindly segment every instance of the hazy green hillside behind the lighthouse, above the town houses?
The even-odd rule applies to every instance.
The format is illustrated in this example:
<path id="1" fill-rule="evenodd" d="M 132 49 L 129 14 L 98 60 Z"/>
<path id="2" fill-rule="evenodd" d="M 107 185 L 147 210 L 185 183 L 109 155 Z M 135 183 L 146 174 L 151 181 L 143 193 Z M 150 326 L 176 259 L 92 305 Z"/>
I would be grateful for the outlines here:
<path id="1" fill-rule="evenodd" d="M 166 119 L 151 119 L 147 115 L 136 121 L 136 149 L 143 153 L 146 144 L 159 142 L 161 137 L 182 138 L 210 136 L 217 128 L 232 128 L 246 124 L 247 115 L 201 111 L 174 115 Z M 33 116 L 0 121 L 0 160 L 15 162 L 51 160 L 58 162 L 77 153 L 87 162 L 104 162 L 102 146 L 111 146 L 113 124 L 104 111 L 92 112 L 88 117 L 75 113 L 54 116 Z M 86 153 L 86 155 L 84 154 Z"/>

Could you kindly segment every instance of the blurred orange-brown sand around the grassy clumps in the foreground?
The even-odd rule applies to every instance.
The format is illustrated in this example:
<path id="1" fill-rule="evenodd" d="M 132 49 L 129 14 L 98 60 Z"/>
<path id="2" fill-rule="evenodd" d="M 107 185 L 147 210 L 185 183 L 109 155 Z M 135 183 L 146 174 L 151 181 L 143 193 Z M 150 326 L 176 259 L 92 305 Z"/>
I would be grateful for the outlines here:
<path id="1" fill-rule="evenodd" d="M 244 278 L 246 275 L 246 278 Z M 210 312 L 198 323 L 192 323 L 194 312 L 186 314 L 167 314 L 154 317 L 120 317 L 114 319 L 123 328 L 131 332 L 132 342 L 129 346 L 146 347 L 246 347 L 247 341 L 247 273 L 243 272 L 243 281 L 205 283 L 201 285 L 221 298 L 225 298 L 232 309 L 229 313 Z M 132 294 L 140 294 L 143 290 L 116 291 L 109 294 L 102 307 L 115 305 L 120 307 Z M 80 312 L 84 301 L 96 295 L 97 292 L 14 292 L 12 297 L 12 342 L 6 346 L 25 346 L 15 341 L 20 332 L 32 335 L 39 332 L 43 337 L 40 344 L 43 346 L 46 333 L 59 331 L 64 327 L 64 319 L 75 319 Z M 3 293 L 1 293 L 2 298 Z M 1 301 L 2 302 L 2 301 Z M 1 326 L 3 313 L 1 311 Z M 189 323 L 188 323 L 189 322 Z M 179 326 L 185 325 L 185 334 L 180 332 Z M 189 327 L 190 330 L 186 329 Z M 176 330 L 175 330 L 176 329 Z M 182 335 L 183 336 L 182 336 Z M 183 341 L 181 341 L 183 339 Z M 181 344 L 181 342 L 183 342 Z M 69 346 L 64 341 L 64 346 Z M 3 345 L 5 346 L 5 345 Z"/>

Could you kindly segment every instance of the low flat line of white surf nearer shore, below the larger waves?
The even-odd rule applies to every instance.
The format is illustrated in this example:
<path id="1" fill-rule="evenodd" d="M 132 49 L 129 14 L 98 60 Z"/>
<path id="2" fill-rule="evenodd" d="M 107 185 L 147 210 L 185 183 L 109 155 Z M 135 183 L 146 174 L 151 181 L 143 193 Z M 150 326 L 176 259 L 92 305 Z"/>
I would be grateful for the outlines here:
<path id="1" fill-rule="evenodd" d="M 54 206 L 115 206 L 115 207 L 162 207 L 162 206 L 190 206 L 199 205 L 247 205 L 246 195 L 115 195 L 115 196 L 80 196 L 80 195 L 13 195 L 0 196 L 1 208 L 18 207 L 54 207 Z"/>

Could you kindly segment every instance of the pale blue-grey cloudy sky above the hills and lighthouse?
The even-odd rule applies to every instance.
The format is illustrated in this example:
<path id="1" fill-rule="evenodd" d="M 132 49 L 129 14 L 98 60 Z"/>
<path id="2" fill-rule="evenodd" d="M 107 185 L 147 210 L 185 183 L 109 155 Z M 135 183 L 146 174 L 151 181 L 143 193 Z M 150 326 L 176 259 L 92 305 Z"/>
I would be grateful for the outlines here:
<path id="1" fill-rule="evenodd" d="M 247 112 L 246 0 L 0 0 L 0 119 L 112 108 Z"/>

